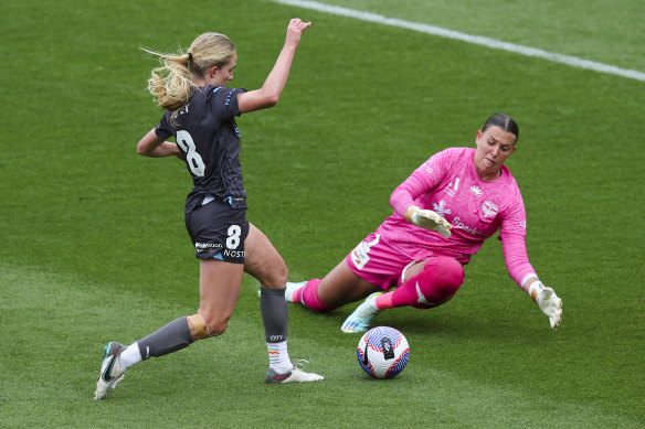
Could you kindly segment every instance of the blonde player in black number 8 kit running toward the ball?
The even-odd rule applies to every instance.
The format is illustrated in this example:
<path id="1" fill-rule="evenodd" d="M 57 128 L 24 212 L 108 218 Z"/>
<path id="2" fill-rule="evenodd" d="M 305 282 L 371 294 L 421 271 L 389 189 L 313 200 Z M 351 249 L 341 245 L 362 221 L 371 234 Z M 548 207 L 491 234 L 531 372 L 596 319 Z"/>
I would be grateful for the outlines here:
<path id="1" fill-rule="evenodd" d="M 195 340 L 221 335 L 231 318 L 243 269 L 262 285 L 269 367 L 266 383 L 314 382 L 287 353 L 287 269 L 268 238 L 245 218 L 246 192 L 240 165 L 240 135 L 235 116 L 273 107 L 285 87 L 303 32 L 310 25 L 293 19 L 284 46 L 260 89 L 226 88 L 237 63 L 234 44 L 223 34 L 198 36 L 186 54 L 157 54 L 148 89 L 167 109 L 161 121 L 138 143 L 139 154 L 179 157 L 193 180 L 186 201 L 186 226 L 200 259 L 200 305 L 148 336 L 125 346 L 105 347 L 95 399 L 103 399 L 134 364 L 162 356 Z M 176 142 L 166 141 L 175 137 Z"/>

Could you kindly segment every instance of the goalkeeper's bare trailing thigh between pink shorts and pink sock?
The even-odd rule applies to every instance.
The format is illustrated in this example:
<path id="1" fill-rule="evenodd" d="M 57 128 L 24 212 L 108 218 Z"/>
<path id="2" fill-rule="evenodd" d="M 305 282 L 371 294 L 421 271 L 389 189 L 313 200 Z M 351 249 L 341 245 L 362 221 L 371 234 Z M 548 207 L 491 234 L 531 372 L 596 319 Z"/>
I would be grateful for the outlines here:
<path id="1" fill-rule="evenodd" d="M 380 290 L 349 269 L 342 259 L 318 285 L 318 298 L 328 305 L 340 307 Z"/>

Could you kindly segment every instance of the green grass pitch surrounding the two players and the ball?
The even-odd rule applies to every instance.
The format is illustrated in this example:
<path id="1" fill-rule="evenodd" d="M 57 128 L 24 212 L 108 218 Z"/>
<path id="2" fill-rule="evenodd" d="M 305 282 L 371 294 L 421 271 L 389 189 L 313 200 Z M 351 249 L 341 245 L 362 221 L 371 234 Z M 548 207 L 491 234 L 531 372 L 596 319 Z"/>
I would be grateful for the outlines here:
<path id="1" fill-rule="evenodd" d="M 645 71 L 638 0 L 328 2 Z M 198 305 L 189 176 L 135 152 L 161 115 L 138 46 L 223 32 L 234 85 L 253 89 L 295 15 L 314 24 L 281 103 L 239 120 L 247 215 L 290 278 L 325 275 L 410 172 L 504 111 L 520 126 L 508 164 L 529 257 L 563 299 L 562 326 L 551 332 L 490 239 L 454 300 L 378 317 L 411 345 L 396 378 L 360 369 L 358 335 L 339 331 L 353 305 L 292 305 L 289 353 L 326 380 L 268 386 L 245 277 L 222 337 L 136 366 L 93 400 L 108 341 Z M 260 0 L 4 1 L 0 32 L 0 427 L 645 426 L 644 82 Z"/>

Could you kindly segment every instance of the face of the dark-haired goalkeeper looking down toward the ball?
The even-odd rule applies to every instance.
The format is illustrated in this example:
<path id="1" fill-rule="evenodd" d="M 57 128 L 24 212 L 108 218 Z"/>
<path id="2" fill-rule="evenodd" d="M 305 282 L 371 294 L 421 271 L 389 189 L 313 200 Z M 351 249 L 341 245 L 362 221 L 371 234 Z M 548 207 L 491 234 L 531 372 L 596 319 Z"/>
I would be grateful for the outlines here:
<path id="1" fill-rule="evenodd" d="M 515 135 L 499 127 L 477 131 L 475 168 L 483 180 L 495 180 L 504 162 L 515 152 Z"/>

